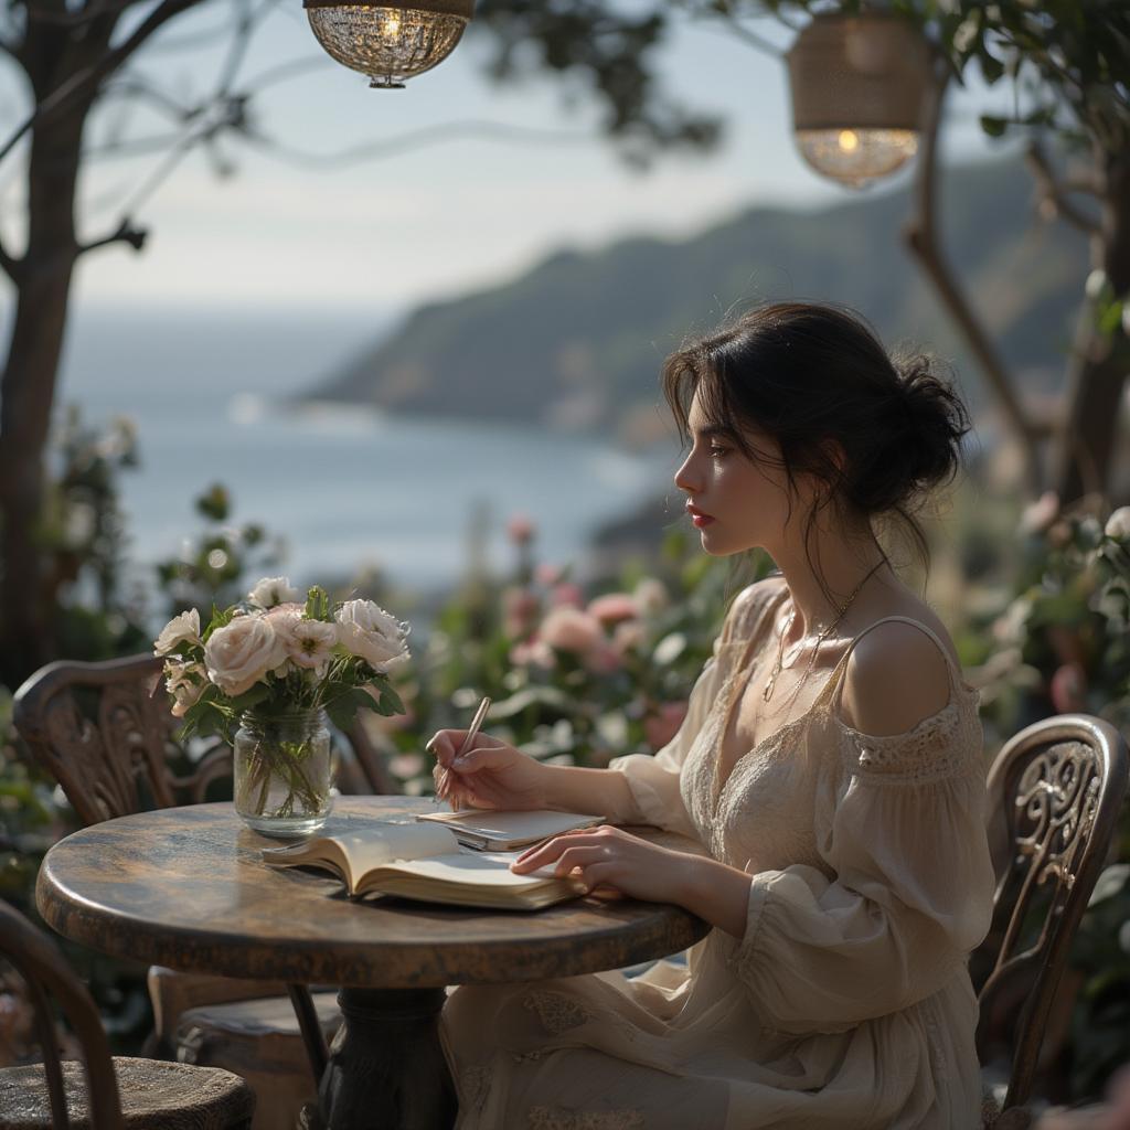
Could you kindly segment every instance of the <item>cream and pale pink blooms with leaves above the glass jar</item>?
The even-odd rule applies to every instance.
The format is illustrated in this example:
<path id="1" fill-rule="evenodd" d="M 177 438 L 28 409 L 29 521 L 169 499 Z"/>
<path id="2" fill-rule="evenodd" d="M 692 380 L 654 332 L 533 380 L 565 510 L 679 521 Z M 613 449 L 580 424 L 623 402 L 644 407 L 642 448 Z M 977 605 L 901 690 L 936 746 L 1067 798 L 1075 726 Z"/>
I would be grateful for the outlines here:
<path id="1" fill-rule="evenodd" d="M 318 585 L 301 597 L 287 577 L 264 577 L 203 631 L 195 609 L 165 625 L 154 653 L 182 737 L 231 739 L 247 712 L 324 710 L 340 728 L 362 707 L 403 712 L 389 673 L 408 660 L 409 626 L 371 600 L 331 607 Z"/>

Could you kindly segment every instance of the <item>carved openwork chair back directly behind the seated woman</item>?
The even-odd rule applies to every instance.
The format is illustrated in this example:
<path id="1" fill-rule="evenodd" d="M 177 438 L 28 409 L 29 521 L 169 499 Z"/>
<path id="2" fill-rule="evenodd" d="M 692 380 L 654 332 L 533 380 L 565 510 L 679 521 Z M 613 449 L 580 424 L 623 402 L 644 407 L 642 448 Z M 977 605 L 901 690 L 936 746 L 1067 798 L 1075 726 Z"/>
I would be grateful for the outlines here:
<path id="1" fill-rule="evenodd" d="M 1125 791 L 1125 741 L 1086 714 L 1027 727 L 989 771 L 989 812 L 1003 837 L 993 923 L 972 964 L 975 977 L 982 965 L 981 1062 L 1010 1061 L 1003 1110 L 1032 1094 L 1055 990 Z"/>

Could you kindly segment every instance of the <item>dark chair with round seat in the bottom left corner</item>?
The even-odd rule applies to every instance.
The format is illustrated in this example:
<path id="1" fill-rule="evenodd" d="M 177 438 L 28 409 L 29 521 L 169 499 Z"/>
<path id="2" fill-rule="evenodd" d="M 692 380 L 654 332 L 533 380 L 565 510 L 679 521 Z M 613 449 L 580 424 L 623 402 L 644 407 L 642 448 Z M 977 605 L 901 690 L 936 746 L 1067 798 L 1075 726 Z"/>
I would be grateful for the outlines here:
<path id="1" fill-rule="evenodd" d="M 0 1069 L 0 1127 L 33 1130 L 247 1130 L 255 1096 L 231 1071 L 165 1060 L 111 1057 L 98 1010 L 58 948 L 0 902 L 0 956 L 20 975 L 34 1010 L 43 1063 Z M 50 1000 L 82 1051 L 61 1060 Z M 84 1085 L 85 1079 L 85 1085 Z M 123 1102 L 124 1099 L 124 1102 Z M 124 1106 L 124 1111 L 123 1111 Z"/>

